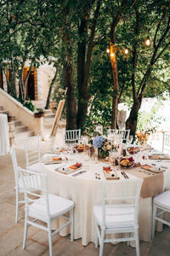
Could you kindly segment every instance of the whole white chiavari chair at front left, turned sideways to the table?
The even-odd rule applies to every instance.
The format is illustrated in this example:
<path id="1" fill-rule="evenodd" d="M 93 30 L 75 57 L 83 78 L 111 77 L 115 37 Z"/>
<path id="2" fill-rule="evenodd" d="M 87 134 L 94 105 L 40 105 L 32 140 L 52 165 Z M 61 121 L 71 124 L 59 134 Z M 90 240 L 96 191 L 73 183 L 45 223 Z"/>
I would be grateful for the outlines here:
<path id="1" fill-rule="evenodd" d="M 71 241 L 73 241 L 74 202 L 48 193 L 48 177 L 46 173 L 32 172 L 21 168 L 19 172 L 24 183 L 26 201 L 23 249 L 26 249 L 28 227 L 33 225 L 38 229 L 48 231 L 49 255 L 52 256 L 52 236 L 59 233 L 67 225 L 71 225 Z M 32 177 L 36 178 L 33 179 Z M 33 186 L 37 193 L 31 192 L 30 186 Z M 70 212 L 69 217 L 67 215 L 68 212 Z M 65 223 L 60 225 L 57 230 L 52 231 L 51 222 L 60 216 L 65 218 Z M 34 219 L 32 220 L 32 218 Z M 45 225 L 37 223 L 37 220 L 42 221 Z"/>

